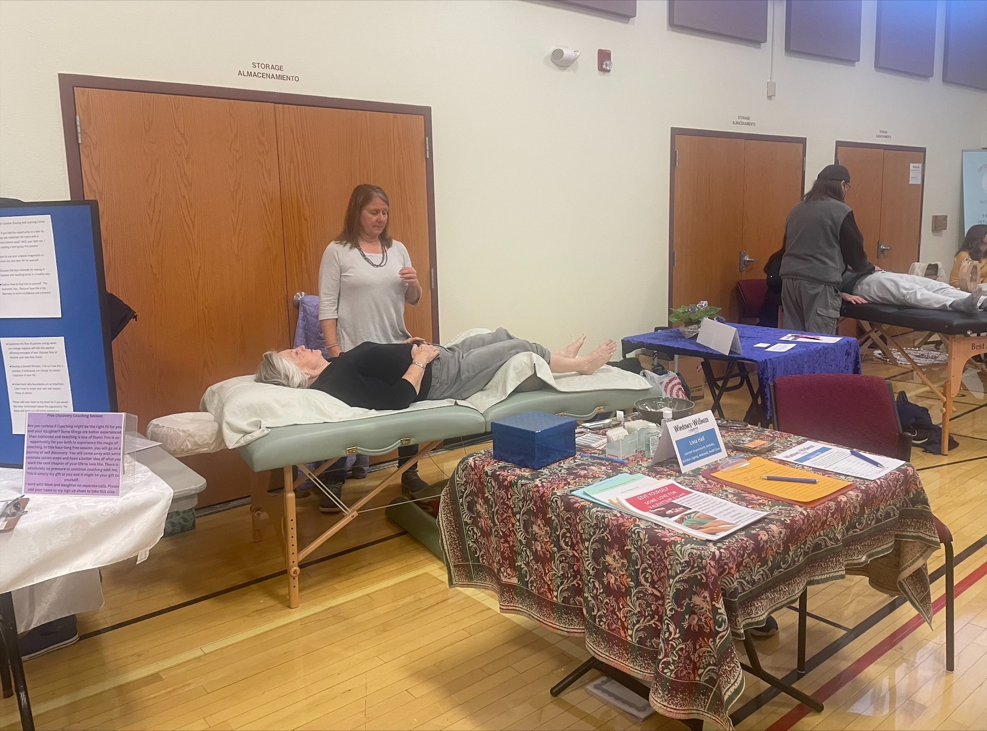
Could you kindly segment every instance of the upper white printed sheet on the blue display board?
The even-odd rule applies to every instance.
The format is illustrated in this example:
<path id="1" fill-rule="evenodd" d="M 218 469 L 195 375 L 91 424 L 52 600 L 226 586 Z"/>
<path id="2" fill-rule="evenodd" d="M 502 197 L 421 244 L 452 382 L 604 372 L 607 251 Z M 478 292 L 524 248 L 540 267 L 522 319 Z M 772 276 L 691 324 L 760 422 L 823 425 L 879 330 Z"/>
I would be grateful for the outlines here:
<path id="1" fill-rule="evenodd" d="M 60 318 L 51 216 L 0 218 L 0 318 Z"/>

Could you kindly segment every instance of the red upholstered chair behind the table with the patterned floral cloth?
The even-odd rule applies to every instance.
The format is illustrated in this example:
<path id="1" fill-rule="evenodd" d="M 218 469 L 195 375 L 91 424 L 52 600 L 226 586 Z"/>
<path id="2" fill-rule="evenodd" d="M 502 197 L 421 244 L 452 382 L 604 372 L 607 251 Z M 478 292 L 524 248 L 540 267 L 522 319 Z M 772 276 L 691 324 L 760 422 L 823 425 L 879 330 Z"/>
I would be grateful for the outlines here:
<path id="1" fill-rule="evenodd" d="M 843 447 L 911 459 L 911 436 L 901 431 L 891 384 L 877 376 L 818 373 L 781 376 L 771 384 L 775 428 Z M 933 516 L 946 549 L 946 669 L 954 668 L 952 534 Z M 798 600 L 798 672 L 805 672 L 806 592 Z"/>

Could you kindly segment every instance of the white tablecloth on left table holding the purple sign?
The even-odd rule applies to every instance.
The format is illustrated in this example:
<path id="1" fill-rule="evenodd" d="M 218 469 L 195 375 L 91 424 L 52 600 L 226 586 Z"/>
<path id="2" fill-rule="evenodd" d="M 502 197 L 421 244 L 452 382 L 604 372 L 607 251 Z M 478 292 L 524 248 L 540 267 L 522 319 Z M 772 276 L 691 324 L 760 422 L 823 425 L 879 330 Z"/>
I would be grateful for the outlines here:
<path id="1" fill-rule="evenodd" d="M 106 566 L 158 543 L 172 488 L 139 463 L 129 469 L 133 480 L 119 497 L 30 495 L 17 527 L 0 533 L 0 593 Z M 22 475 L 0 468 L 0 500 L 21 494 Z"/>

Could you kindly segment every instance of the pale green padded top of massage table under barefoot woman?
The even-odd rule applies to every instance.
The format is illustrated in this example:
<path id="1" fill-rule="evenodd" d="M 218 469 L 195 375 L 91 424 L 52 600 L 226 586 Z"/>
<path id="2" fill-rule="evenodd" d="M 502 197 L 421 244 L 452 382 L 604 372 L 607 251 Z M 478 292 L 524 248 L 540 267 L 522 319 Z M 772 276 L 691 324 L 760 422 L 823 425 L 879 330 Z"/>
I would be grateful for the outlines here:
<path id="1" fill-rule="evenodd" d="M 483 413 L 470 406 L 450 405 L 348 421 L 277 426 L 240 447 L 239 452 L 250 469 L 259 473 L 339 458 L 352 448 L 363 455 L 379 456 L 394 451 L 405 439 L 419 444 L 483 434 L 490 431 L 493 421 L 524 411 L 563 413 L 588 421 L 596 413 L 628 409 L 639 399 L 656 396 L 662 394 L 655 387 L 579 392 L 539 389 L 511 394 Z"/>

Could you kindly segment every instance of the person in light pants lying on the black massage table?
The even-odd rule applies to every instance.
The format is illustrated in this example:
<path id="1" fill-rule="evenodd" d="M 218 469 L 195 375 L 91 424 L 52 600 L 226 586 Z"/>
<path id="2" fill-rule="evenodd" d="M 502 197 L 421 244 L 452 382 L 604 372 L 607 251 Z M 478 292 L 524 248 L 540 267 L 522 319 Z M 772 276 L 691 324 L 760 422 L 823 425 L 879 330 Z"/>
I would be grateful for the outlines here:
<path id="1" fill-rule="evenodd" d="M 840 282 L 840 296 L 855 305 L 871 302 L 970 314 L 987 310 L 987 284 L 969 293 L 936 279 L 893 271 L 857 273 L 848 269 Z"/>

